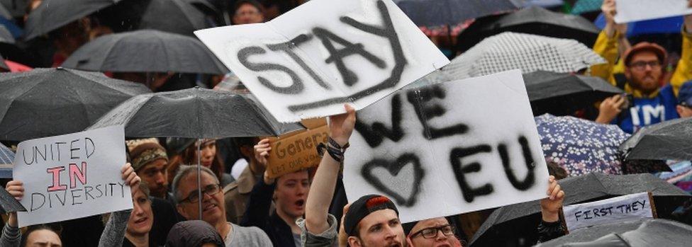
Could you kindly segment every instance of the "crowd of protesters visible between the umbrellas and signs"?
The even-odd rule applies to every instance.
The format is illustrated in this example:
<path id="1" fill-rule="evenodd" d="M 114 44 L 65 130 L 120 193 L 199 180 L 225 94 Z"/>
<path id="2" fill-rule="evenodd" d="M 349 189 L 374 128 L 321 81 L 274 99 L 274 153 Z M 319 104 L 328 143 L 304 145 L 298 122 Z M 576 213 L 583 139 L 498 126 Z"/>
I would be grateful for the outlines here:
<path id="1" fill-rule="evenodd" d="M 233 25 L 269 21 L 303 3 L 211 2 L 227 8 Z M 27 14 L 40 3 L 29 1 Z M 692 0 L 689 3 L 692 6 Z M 692 117 L 692 83 L 687 82 L 692 80 L 692 15 L 683 17 L 680 59 L 674 69 L 666 70 L 669 52 L 653 42 L 630 45 L 627 24 L 615 23 L 615 4 L 616 0 L 603 1 L 606 25 L 593 45 L 607 63 L 586 73 L 626 93 L 594 103 L 598 114 L 591 120 L 634 133 L 659 122 Z M 225 16 L 206 17 L 209 23 L 222 25 Z M 34 50 L 24 61 L 35 67 L 60 66 L 84 43 L 113 33 L 96 20 L 81 18 L 43 41 L 28 42 L 27 49 Z M 186 81 L 189 78 L 172 73 L 108 76 L 146 84 L 152 91 L 213 88 L 221 81 L 220 76 L 193 76 Z M 26 229 L 18 227 L 17 214 L 11 212 L 4 217 L 0 246 L 464 246 L 471 236 L 459 231 L 453 216 L 403 224 L 396 205 L 384 195 L 346 202 L 340 171 L 356 114 L 350 105 L 344 107 L 346 113 L 328 117 L 328 151 L 319 166 L 278 178 L 266 171 L 272 148 L 263 137 L 128 140 L 128 163 L 121 172 L 131 188 L 133 209 Z M 564 171 L 550 165 L 547 197 L 540 201 L 542 221 L 535 226 L 540 242 L 565 234 L 559 211 L 570 196 L 558 183 Z M 10 180 L 5 188 L 17 200 L 26 196 L 22 181 Z"/>

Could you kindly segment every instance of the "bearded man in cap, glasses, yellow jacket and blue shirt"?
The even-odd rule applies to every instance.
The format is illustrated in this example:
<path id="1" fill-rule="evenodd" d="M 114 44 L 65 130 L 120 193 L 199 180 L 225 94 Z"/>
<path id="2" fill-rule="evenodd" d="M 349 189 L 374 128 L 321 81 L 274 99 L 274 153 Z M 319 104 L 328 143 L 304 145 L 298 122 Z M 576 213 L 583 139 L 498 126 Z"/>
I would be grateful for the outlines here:
<path id="1" fill-rule="evenodd" d="M 692 6 L 692 0 L 688 1 L 688 6 Z M 618 40 L 626 39 L 624 32 L 627 30 L 627 24 L 615 23 L 615 0 L 603 1 L 601 9 L 606 25 L 593 50 L 605 57 L 608 63 L 591 67 L 591 75 L 600 76 L 618 86 L 614 74 L 617 74 L 616 63 L 618 58 L 621 58 L 627 82 L 620 86 L 632 98 L 618 95 L 603 100 L 599 105 L 596 122 L 612 123 L 620 126 L 625 132 L 633 133 L 641 127 L 678 118 L 676 95 L 683 82 L 692 79 L 692 16 L 683 18 L 682 54 L 670 84 L 660 87 L 664 84 L 665 78 L 666 50 L 649 42 L 640 42 L 628 49 L 621 47 L 623 42 Z M 619 50 L 625 50 L 622 57 L 618 56 Z"/>

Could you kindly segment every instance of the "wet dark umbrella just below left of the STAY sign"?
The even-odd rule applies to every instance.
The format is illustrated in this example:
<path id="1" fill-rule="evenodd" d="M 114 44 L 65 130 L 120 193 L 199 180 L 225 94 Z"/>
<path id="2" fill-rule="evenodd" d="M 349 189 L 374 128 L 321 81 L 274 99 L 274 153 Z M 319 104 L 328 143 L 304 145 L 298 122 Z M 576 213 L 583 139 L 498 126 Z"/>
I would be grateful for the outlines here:
<path id="1" fill-rule="evenodd" d="M 135 96 L 89 129 L 111 125 L 125 125 L 125 137 L 259 137 L 303 129 L 280 123 L 247 95 L 199 87 Z"/>

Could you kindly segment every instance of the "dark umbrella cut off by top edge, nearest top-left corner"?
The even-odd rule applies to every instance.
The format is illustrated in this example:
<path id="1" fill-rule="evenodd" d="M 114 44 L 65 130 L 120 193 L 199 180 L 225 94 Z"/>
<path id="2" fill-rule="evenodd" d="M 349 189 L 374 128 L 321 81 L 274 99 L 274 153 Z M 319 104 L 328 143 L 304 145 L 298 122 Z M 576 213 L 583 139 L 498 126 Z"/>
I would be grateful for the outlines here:
<path id="1" fill-rule="evenodd" d="M 29 13 L 24 38 L 31 40 L 121 0 L 43 0 Z"/>

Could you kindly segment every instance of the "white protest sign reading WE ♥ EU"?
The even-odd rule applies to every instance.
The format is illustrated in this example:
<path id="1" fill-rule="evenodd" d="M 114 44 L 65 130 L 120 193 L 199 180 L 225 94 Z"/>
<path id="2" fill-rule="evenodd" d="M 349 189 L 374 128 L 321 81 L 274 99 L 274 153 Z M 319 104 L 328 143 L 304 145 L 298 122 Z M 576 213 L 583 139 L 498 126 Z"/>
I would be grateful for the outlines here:
<path id="1" fill-rule="evenodd" d="M 519 70 L 413 88 L 357 113 L 350 201 L 390 197 L 411 222 L 546 197 L 548 172 Z"/>

